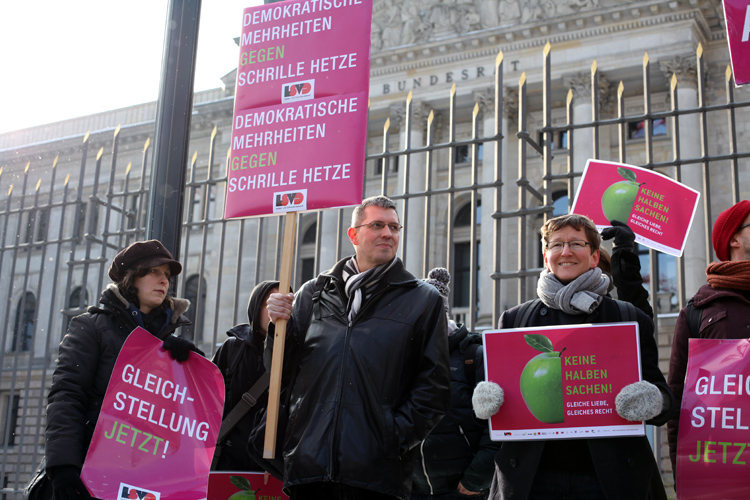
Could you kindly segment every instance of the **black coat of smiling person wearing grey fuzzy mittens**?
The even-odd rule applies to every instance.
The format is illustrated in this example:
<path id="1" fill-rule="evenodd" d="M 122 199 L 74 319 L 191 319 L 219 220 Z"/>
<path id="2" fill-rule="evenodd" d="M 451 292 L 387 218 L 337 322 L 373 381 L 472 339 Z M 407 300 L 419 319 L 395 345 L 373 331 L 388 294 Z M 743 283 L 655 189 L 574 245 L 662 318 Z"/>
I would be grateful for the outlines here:
<path id="1" fill-rule="evenodd" d="M 502 328 L 513 328 L 515 315 L 520 306 L 505 311 L 500 317 Z M 664 375 L 659 369 L 659 353 L 654 340 L 654 326 L 641 310 L 638 315 L 639 340 L 641 344 L 641 374 L 643 380 L 656 385 L 669 394 L 671 405 L 647 423 L 663 425 L 671 418 L 676 408 L 674 396 L 669 390 Z M 582 323 L 613 323 L 620 321 L 619 307 L 615 300 L 605 297 L 599 307 L 589 315 L 570 315 L 559 309 L 544 305 L 537 308 L 526 326 L 572 325 Z M 502 408 L 500 411 L 512 411 Z M 570 440 L 584 443 L 591 456 L 594 471 L 608 500 L 645 500 L 649 497 L 652 479 L 661 487 L 661 478 L 655 477 L 658 469 L 648 440 L 645 437 L 597 438 Z M 545 452 L 545 441 L 506 441 L 495 456 L 497 466 L 493 482 L 492 498 L 516 500 L 528 498 L 537 467 Z M 563 462 L 566 456 L 545 457 Z M 663 494 L 663 487 L 662 494 Z"/>

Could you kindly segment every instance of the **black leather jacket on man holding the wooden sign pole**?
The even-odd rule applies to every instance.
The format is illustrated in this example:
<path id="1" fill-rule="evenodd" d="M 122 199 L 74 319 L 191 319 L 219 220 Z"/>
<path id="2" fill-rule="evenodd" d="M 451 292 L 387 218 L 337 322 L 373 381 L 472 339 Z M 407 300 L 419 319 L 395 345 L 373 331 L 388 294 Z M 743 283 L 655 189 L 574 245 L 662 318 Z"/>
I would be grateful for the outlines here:
<path id="1" fill-rule="evenodd" d="M 443 299 L 401 261 L 381 278 L 350 323 L 341 270 L 307 282 L 287 324 L 289 422 L 284 485 L 336 482 L 406 500 L 414 448 L 450 398 Z M 266 367 L 273 352 L 273 325 Z"/>

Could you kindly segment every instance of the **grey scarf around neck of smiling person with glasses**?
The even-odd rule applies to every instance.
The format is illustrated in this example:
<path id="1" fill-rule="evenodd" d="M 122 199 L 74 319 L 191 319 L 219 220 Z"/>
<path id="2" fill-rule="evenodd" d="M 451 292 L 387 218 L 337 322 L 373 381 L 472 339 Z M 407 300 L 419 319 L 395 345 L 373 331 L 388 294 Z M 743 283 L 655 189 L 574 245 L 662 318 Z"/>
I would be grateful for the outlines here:
<path id="1" fill-rule="evenodd" d="M 590 314 L 602 302 L 609 289 L 609 276 L 598 267 L 589 269 L 567 285 L 544 269 L 539 275 L 536 293 L 544 305 L 568 314 Z"/>

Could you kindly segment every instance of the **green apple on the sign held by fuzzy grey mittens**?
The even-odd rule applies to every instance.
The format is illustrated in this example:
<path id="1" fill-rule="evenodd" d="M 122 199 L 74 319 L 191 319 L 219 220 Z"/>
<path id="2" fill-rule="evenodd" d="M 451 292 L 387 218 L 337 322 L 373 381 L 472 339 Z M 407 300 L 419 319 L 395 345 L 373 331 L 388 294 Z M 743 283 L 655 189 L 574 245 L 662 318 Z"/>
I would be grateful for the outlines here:
<path id="1" fill-rule="evenodd" d="M 559 424 L 565 420 L 562 398 L 562 363 L 560 352 L 544 335 L 524 335 L 524 340 L 541 354 L 526 363 L 521 372 L 521 395 L 532 415 L 546 424 Z"/>

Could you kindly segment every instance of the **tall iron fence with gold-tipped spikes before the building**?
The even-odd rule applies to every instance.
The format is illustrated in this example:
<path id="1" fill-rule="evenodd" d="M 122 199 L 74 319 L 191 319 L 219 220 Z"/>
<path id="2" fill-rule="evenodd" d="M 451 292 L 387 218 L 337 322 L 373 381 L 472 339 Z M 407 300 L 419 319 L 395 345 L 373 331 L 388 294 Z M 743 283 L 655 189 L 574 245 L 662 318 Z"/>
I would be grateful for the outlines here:
<path id="1" fill-rule="evenodd" d="M 383 193 L 398 201 L 405 226 L 399 255 L 420 276 L 435 266 L 451 271 L 453 313 L 471 330 L 496 325 L 506 307 L 531 298 L 541 270 L 538 229 L 547 217 L 570 207 L 582 173 L 581 151 L 693 183 L 703 199 L 697 214 L 701 229 L 694 240 L 699 251 L 692 252 L 697 262 L 713 257 L 713 214 L 749 197 L 741 182 L 750 157 L 744 146 L 748 131 L 737 124 L 750 122 L 750 100 L 736 99 L 729 69 L 718 77 L 716 71 L 709 74 L 700 47 L 695 86 L 683 85 L 673 74 L 667 90 L 654 89 L 646 55 L 640 75 L 627 74 L 628 87 L 621 81 L 616 91 L 610 87 L 604 93 L 599 91 L 602 72 L 594 63 L 583 78 L 588 80 L 584 87 L 593 89 L 589 101 L 575 97 L 564 75 L 553 74 L 552 55 L 547 45 L 542 71 L 533 81 L 523 74 L 518 82 L 505 82 L 500 53 L 494 85 L 480 89 L 483 93 L 472 89 L 470 97 L 478 96 L 473 106 L 459 103 L 465 94 L 454 84 L 434 102 L 417 102 L 420 96 L 409 93 L 400 109 L 370 110 L 363 194 Z M 721 78 L 723 90 L 715 83 Z M 683 102 L 685 95 L 694 102 Z M 668 106 L 654 109 L 654 96 Z M 609 107 L 603 110 L 607 100 Z M 590 119 L 580 119 L 577 106 L 582 102 Z M 628 106 L 637 111 L 628 112 Z M 224 108 L 231 116 L 231 102 Z M 696 121 L 697 129 L 686 135 L 685 127 L 694 127 Z M 217 143 L 231 134 L 230 126 L 231 121 L 214 127 L 210 137 L 194 132 L 199 146 L 187 166 L 179 256 L 185 271 L 175 287 L 177 295 L 192 302 L 194 325 L 183 335 L 208 356 L 226 330 L 245 321 L 254 284 L 278 275 L 283 238 L 278 216 L 221 217 L 227 177 Z M 655 127 L 662 126 L 666 133 L 655 133 Z M 632 130 L 643 130 L 643 137 Z M 127 126 L 109 132 L 111 139 L 101 139 L 103 132 L 97 139 L 106 142 L 106 154 L 104 146 L 93 153 L 91 137 L 85 134 L 72 152 L 61 153 L 62 161 L 47 154 L 29 159 L 23 171 L 0 170 L 4 498 L 20 498 L 44 453 L 46 395 L 69 319 L 97 302 L 115 253 L 144 236 L 150 141 L 135 148 L 138 134 Z M 125 167 L 123 134 L 129 144 Z M 685 143 L 686 137 L 696 135 L 697 148 Z M 31 158 L 22 148 L 0 151 L 0 161 L 11 154 Z M 350 213 L 335 209 L 301 216 L 295 288 L 351 253 L 343 238 Z M 687 282 L 702 280 L 702 268 L 686 268 L 685 258 L 665 260 L 643 250 L 643 271 L 659 313 L 664 362 L 674 315 L 692 293 Z M 666 276 L 663 280 L 660 273 Z M 665 293 L 669 296 L 662 301 Z M 658 433 L 654 439 L 661 443 Z M 659 458 L 660 448 L 655 447 Z M 669 476 L 665 474 L 668 482 Z"/>

